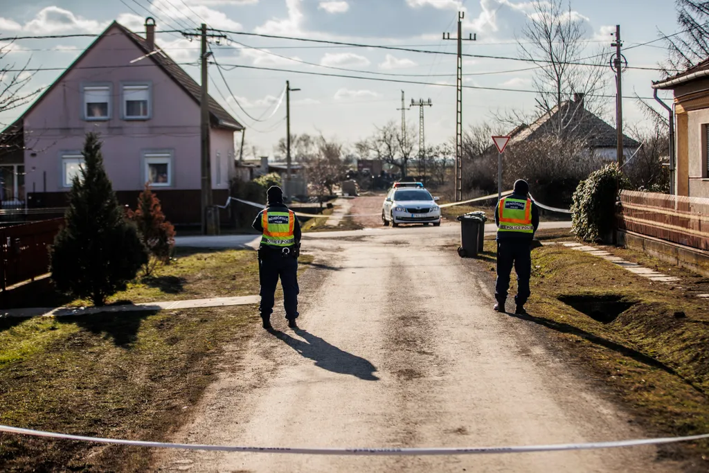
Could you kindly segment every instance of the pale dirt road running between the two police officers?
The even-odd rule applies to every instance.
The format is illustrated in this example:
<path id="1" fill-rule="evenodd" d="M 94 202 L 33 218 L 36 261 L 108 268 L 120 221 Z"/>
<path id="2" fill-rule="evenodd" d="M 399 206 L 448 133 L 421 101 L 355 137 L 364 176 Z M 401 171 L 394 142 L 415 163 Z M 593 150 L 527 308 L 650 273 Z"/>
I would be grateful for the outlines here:
<path id="1" fill-rule="evenodd" d="M 443 228 L 318 235 L 300 330 L 274 314 L 174 441 L 471 447 L 639 438 L 625 413 L 526 322 L 491 310 L 491 276 Z M 237 347 L 234 350 L 238 350 Z M 236 354 L 236 351 L 235 353 Z M 166 452 L 160 471 L 671 472 L 654 447 L 450 457 Z"/>

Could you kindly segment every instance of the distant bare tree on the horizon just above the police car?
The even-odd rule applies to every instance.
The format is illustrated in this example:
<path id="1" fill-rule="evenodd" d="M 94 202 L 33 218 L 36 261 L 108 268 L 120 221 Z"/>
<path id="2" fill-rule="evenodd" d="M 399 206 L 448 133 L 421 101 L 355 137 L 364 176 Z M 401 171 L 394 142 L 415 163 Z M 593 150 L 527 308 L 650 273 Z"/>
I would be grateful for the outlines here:
<path id="1" fill-rule="evenodd" d="M 362 156 L 382 160 L 401 172 L 406 177 L 408 162 L 414 156 L 416 130 L 408 128 L 406 136 L 401 133 L 401 126 L 394 121 L 386 123 L 371 138 L 357 143 L 356 148 Z"/>

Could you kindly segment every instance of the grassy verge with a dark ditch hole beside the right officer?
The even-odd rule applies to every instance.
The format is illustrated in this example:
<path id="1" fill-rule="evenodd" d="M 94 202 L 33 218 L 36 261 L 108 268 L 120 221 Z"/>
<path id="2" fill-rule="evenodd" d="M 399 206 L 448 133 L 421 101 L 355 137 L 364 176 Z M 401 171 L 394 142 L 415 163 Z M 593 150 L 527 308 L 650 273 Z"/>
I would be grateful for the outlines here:
<path id="1" fill-rule="evenodd" d="M 496 252 L 494 242 L 485 245 Z M 532 252 L 532 315 L 524 318 L 561 338 L 653 430 L 707 433 L 709 312 L 706 301 L 671 288 L 585 252 L 546 246 Z M 603 323 L 559 300 L 579 296 L 613 298 L 629 308 Z M 661 451 L 706 458 L 709 442 Z"/>

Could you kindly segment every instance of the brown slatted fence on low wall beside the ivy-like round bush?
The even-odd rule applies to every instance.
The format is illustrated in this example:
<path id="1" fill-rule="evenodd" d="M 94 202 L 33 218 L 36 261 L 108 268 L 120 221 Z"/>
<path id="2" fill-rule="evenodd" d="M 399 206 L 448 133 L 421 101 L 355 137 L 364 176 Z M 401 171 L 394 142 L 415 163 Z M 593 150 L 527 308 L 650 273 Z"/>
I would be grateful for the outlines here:
<path id="1" fill-rule="evenodd" d="M 623 191 L 620 228 L 709 251 L 709 199 Z"/>

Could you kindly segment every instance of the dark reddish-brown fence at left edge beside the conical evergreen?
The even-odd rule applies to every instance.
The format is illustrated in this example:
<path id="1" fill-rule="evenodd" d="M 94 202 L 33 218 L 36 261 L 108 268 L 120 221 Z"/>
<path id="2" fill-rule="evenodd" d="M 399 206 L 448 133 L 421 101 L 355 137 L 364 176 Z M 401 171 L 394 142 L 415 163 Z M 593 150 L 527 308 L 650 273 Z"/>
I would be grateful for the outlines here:
<path id="1" fill-rule="evenodd" d="M 49 272 L 48 245 L 64 218 L 0 228 L 0 289 Z"/>

